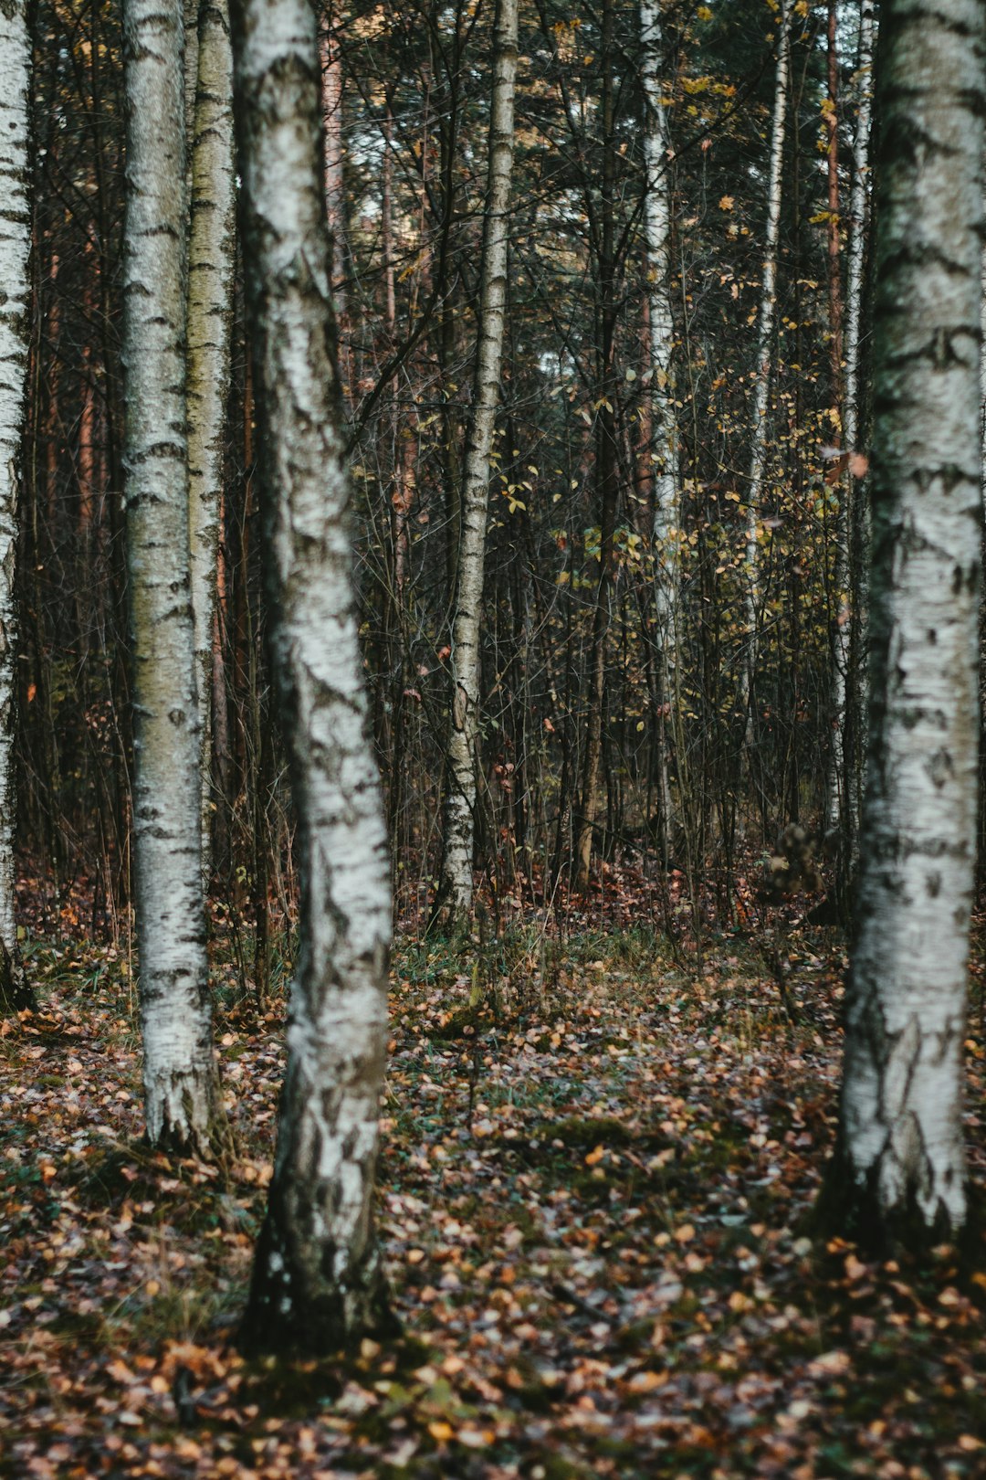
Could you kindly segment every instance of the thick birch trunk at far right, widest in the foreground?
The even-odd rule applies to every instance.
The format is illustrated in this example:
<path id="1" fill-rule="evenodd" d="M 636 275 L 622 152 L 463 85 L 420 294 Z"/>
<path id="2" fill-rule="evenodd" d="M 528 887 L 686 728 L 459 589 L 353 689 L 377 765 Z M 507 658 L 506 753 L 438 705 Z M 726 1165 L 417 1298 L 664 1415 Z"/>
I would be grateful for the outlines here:
<path id="1" fill-rule="evenodd" d="M 872 1245 L 967 1215 L 985 19 L 980 0 L 881 10 L 869 765 L 829 1175 Z"/>

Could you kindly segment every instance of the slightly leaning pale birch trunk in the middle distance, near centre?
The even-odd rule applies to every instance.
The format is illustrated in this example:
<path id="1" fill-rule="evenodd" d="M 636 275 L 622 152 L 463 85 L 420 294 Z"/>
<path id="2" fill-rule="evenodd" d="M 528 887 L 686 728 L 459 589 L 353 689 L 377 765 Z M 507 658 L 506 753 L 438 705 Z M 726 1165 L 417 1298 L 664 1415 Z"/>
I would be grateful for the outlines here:
<path id="1" fill-rule="evenodd" d="M 489 115 L 489 161 L 483 256 L 480 268 L 479 333 L 473 404 L 466 437 L 463 524 L 452 622 L 452 712 L 448 739 L 443 854 L 436 918 L 461 924 L 473 904 L 473 845 L 476 833 L 476 746 L 479 740 L 479 629 L 486 556 L 489 454 L 500 398 L 510 173 L 513 169 L 513 96 L 517 75 L 519 0 L 497 0 L 494 80 Z"/>

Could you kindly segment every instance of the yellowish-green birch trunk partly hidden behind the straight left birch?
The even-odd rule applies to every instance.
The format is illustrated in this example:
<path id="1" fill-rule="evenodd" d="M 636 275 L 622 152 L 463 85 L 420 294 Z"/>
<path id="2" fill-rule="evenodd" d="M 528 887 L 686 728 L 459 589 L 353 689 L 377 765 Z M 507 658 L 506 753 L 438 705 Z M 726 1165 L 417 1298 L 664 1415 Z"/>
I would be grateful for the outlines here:
<path id="1" fill-rule="evenodd" d="M 216 558 L 234 289 L 232 53 L 226 0 L 204 0 L 192 142 L 188 256 L 188 512 L 203 787 L 203 875 L 211 835 Z"/>

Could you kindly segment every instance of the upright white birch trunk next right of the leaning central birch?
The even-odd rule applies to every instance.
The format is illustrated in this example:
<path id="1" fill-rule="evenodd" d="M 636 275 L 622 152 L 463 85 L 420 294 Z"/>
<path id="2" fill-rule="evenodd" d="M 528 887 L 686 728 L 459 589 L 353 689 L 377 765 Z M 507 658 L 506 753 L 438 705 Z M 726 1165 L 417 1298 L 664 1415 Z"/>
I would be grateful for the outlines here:
<path id="1" fill-rule="evenodd" d="M 671 145 L 662 86 L 662 34 L 659 0 L 642 0 L 643 95 L 646 120 L 643 157 L 646 166 L 645 235 L 647 243 L 649 343 L 650 343 L 650 457 L 653 478 L 653 607 L 658 644 L 658 787 L 661 799 L 661 855 L 667 867 L 674 818 L 668 755 L 667 704 L 676 650 L 679 598 L 679 437 L 674 410 L 674 317 L 671 312 Z"/>

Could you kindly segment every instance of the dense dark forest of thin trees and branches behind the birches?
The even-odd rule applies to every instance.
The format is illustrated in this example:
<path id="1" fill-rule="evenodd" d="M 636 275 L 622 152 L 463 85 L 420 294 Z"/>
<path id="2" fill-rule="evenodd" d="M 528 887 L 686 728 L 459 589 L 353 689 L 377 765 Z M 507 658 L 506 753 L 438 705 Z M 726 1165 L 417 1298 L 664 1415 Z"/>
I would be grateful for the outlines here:
<path id="1" fill-rule="evenodd" d="M 491 21 L 486 7 L 466 4 L 355 7 L 325 18 L 322 53 L 362 642 L 398 906 L 418 925 L 441 851 Z M 840 218 L 832 237 L 829 158 L 838 161 L 835 210 L 841 200 L 846 212 L 869 75 L 856 68 L 853 7 L 794 7 L 747 713 L 751 426 L 781 9 L 676 4 L 662 18 L 680 454 L 671 530 L 680 604 L 667 694 L 653 598 L 665 552 L 652 537 L 636 6 L 611 6 L 605 34 L 602 25 L 593 7 L 522 12 L 476 861 L 497 909 L 550 906 L 569 878 L 602 602 L 594 878 L 630 858 L 665 879 L 668 863 L 687 878 L 686 894 L 714 878 L 727 916 L 747 869 L 738 852 L 772 848 L 788 821 L 823 820 L 832 632 L 844 605 L 835 536 L 849 478 L 832 352 L 849 225 Z M 129 898 L 130 805 L 118 12 L 40 4 L 34 46 L 19 838 L 59 889 L 84 878 L 93 921 L 115 932 Z M 271 909 L 290 916 L 294 878 L 259 565 L 238 289 L 213 644 L 213 867 L 217 897 L 263 931 Z"/>

